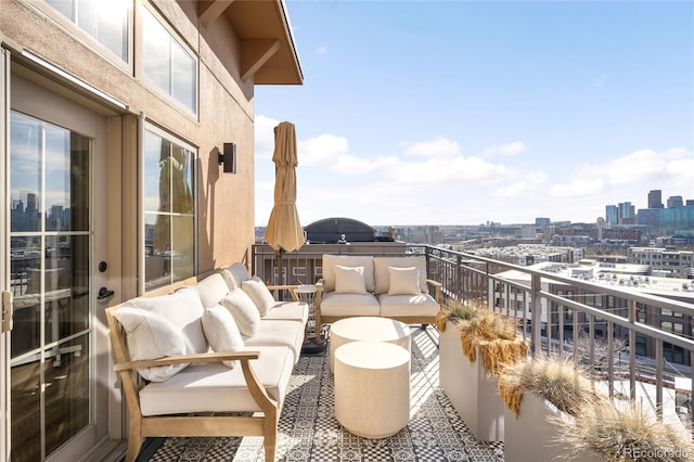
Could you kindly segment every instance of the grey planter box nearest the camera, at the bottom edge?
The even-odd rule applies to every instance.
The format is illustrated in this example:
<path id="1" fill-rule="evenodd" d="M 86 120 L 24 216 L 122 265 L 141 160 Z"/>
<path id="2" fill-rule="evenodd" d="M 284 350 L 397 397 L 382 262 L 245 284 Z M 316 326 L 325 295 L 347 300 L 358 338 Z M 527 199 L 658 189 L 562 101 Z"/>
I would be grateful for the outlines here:
<path id="1" fill-rule="evenodd" d="M 594 452 L 576 452 L 576 449 L 564 445 L 560 437 L 561 429 L 548 418 L 563 416 L 548 400 L 531 393 L 524 393 L 520 400 L 518 418 L 504 407 L 504 460 L 506 462 L 564 460 L 571 454 L 577 461 L 605 461 Z"/>

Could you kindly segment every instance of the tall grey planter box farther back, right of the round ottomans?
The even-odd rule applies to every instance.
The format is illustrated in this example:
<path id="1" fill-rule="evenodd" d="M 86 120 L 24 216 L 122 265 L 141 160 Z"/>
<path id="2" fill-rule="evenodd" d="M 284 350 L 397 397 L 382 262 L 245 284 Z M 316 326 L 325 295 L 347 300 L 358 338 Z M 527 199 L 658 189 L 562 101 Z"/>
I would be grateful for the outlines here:
<path id="1" fill-rule="evenodd" d="M 450 322 L 439 335 L 439 384 L 472 434 L 480 441 L 504 440 L 505 405 L 497 392 L 497 378 L 481 361 L 470 363 L 460 334 Z M 536 459 L 540 460 L 540 459 Z"/>

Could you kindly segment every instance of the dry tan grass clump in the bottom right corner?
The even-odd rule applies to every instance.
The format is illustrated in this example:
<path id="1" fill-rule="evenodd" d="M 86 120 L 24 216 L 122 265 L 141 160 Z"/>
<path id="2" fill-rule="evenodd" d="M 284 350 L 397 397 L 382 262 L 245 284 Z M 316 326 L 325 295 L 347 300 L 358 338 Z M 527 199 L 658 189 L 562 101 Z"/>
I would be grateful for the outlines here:
<path id="1" fill-rule="evenodd" d="M 694 460 L 691 428 L 665 424 L 652 408 L 627 401 L 593 402 L 574 419 L 552 419 L 562 428 L 557 438 L 578 450 L 592 450 L 609 461 Z M 571 459 L 567 454 L 567 459 Z"/>

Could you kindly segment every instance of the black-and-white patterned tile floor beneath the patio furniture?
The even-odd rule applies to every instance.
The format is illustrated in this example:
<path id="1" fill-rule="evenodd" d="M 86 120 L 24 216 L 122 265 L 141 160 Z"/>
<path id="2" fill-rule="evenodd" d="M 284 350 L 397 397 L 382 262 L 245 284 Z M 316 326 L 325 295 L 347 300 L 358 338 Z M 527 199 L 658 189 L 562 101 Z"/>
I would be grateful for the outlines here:
<path id="1" fill-rule="evenodd" d="M 344 429 L 333 415 L 330 349 L 303 356 L 294 369 L 280 418 L 275 460 L 305 461 L 503 461 L 503 444 L 472 436 L 438 386 L 438 333 L 412 326 L 410 422 L 396 435 L 365 439 Z M 262 438 L 167 438 L 152 462 L 265 461 Z"/>

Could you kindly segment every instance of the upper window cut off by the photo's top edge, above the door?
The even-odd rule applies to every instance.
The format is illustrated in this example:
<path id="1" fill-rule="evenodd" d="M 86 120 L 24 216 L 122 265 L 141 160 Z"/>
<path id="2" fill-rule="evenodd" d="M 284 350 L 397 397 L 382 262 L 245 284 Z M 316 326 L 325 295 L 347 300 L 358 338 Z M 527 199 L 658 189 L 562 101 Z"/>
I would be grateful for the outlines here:
<path id="1" fill-rule="evenodd" d="M 129 1 L 47 0 L 49 5 L 128 62 Z"/>

